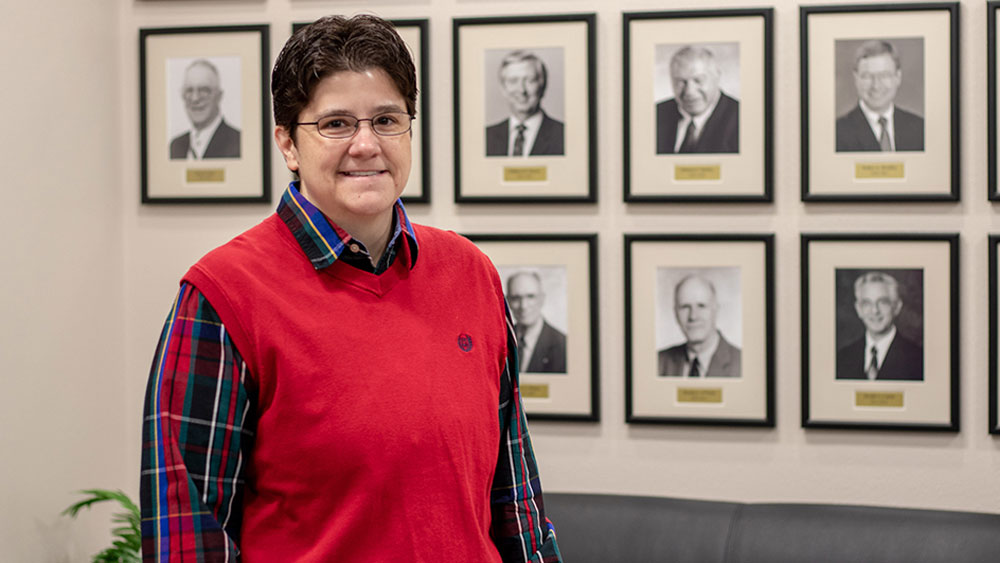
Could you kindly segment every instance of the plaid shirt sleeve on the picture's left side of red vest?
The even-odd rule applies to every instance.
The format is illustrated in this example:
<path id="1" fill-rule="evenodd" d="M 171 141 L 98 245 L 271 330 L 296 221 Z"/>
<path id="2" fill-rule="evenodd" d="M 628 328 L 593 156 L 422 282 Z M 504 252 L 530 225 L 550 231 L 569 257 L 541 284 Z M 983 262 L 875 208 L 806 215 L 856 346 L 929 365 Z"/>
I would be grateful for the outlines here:
<path id="1" fill-rule="evenodd" d="M 150 370 L 142 426 L 144 561 L 237 561 L 254 413 L 246 364 L 201 293 L 182 284 Z"/>

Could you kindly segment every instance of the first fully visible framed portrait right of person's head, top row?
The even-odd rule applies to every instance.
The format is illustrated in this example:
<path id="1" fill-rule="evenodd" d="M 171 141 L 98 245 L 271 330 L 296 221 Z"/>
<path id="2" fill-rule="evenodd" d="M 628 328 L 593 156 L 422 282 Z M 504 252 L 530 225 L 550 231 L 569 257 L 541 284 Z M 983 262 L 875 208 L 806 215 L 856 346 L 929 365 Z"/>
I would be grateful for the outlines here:
<path id="1" fill-rule="evenodd" d="M 594 14 L 455 18 L 455 201 L 597 201 Z"/>

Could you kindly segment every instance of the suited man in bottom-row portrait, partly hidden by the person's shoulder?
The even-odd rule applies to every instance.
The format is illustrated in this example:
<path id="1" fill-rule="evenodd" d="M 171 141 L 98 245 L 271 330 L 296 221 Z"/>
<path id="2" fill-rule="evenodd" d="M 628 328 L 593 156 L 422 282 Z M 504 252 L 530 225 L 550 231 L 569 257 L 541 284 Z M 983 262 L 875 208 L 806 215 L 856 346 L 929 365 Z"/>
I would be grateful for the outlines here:
<path id="1" fill-rule="evenodd" d="M 514 315 L 521 371 L 566 373 L 566 335 L 542 318 L 541 277 L 528 270 L 512 274 L 507 278 L 507 302 Z"/>

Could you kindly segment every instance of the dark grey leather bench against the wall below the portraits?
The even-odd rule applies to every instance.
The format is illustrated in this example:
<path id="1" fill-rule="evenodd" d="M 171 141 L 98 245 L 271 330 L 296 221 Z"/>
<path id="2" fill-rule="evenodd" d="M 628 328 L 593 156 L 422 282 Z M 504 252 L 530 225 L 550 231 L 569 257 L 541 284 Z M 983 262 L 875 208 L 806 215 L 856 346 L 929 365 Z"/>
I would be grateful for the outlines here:
<path id="1" fill-rule="evenodd" d="M 566 563 L 997 563 L 1000 515 L 551 493 Z"/>

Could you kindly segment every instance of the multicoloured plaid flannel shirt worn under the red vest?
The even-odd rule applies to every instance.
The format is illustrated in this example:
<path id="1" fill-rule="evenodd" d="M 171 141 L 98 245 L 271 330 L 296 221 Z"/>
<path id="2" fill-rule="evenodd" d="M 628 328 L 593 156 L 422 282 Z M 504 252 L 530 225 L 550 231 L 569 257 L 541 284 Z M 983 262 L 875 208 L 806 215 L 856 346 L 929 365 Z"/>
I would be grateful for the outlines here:
<path id="1" fill-rule="evenodd" d="M 278 215 L 320 270 L 349 248 L 350 235 L 330 223 L 293 183 Z M 396 205 L 390 248 L 416 238 Z M 366 252 L 363 248 L 362 254 Z M 387 253 L 391 260 L 394 252 Z M 416 255 L 416 253 L 414 253 Z M 383 261 L 380 269 L 384 269 Z M 505 562 L 561 561 L 544 515 L 535 457 L 517 386 L 517 339 L 509 309 L 507 349 L 497 414 L 501 444 L 490 491 L 491 535 Z M 143 417 L 142 551 L 145 561 L 239 560 L 244 474 L 254 444 L 256 389 L 218 314 L 197 288 L 182 284 L 153 359 Z"/>

